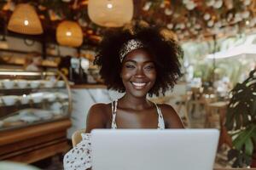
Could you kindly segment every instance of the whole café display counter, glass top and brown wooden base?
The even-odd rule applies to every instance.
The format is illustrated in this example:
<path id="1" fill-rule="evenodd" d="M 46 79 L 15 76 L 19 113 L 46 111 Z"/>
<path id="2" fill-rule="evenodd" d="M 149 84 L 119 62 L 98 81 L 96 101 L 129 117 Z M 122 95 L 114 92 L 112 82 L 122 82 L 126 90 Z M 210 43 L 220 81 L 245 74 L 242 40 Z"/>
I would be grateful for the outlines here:
<path id="1" fill-rule="evenodd" d="M 60 71 L 0 70 L 0 161 L 32 163 L 69 150 L 68 83 Z"/>

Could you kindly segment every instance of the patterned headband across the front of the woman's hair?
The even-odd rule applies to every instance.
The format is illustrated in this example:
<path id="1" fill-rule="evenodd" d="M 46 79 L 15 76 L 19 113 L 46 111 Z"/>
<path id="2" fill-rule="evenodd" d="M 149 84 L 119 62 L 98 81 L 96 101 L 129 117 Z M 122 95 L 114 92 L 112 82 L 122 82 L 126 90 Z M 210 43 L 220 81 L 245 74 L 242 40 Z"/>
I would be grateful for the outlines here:
<path id="1" fill-rule="evenodd" d="M 143 42 L 137 39 L 131 39 L 128 42 L 125 42 L 124 46 L 119 51 L 120 62 L 123 62 L 123 59 L 125 58 L 126 54 L 130 53 L 132 50 L 135 50 L 137 48 L 145 48 Z"/>

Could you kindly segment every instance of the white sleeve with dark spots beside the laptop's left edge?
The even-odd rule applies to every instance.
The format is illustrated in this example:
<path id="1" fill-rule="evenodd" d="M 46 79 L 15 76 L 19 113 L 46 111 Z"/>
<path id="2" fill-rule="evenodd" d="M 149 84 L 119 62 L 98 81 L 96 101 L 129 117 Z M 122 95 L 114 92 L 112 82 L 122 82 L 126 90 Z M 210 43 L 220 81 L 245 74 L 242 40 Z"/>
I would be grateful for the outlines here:
<path id="1" fill-rule="evenodd" d="M 82 133 L 82 141 L 64 156 L 65 170 L 85 170 L 91 167 L 90 133 Z"/>

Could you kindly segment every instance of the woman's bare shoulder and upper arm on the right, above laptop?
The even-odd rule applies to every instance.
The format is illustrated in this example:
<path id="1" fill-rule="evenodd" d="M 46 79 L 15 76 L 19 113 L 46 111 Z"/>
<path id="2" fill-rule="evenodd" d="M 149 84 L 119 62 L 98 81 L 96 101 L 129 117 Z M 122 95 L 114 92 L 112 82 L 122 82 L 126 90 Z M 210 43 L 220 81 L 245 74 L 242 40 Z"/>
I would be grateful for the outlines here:
<path id="1" fill-rule="evenodd" d="M 165 122 L 170 125 L 169 128 L 183 128 L 183 122 L 172 105 L 160 104 L 159 107 Z"/>

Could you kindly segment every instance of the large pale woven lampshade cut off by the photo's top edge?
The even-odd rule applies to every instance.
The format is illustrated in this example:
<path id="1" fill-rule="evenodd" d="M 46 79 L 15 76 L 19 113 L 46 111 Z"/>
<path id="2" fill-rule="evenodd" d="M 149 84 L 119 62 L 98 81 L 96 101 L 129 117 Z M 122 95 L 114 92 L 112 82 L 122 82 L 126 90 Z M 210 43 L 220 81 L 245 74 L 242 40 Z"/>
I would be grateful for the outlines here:
<path id="1" fill-rule="evenodd" d="M 132 0 L 89 0 L 90 20 L 99 26 L 119 27 L 130 22 L 133 15 Z"/>

